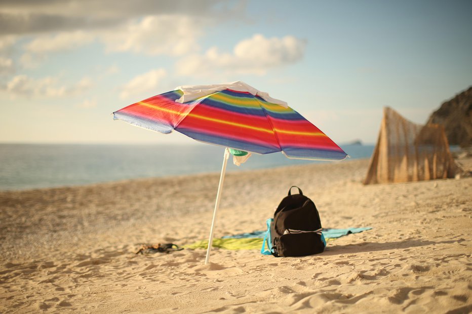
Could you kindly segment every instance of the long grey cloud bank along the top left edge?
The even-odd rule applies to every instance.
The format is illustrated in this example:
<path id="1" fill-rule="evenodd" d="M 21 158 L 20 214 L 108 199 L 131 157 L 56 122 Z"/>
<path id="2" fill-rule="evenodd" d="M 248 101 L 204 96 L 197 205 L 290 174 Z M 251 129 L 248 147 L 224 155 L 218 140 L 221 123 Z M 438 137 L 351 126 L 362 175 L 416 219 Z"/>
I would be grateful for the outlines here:
<path id="1" fill-rule="evenodd" d="M 244 1 L 240 0 L 4 0 L 0 6 L 0 35 L 114 28 L 140 16 L 176 12 L 241 20 L 244 10 Z"/>

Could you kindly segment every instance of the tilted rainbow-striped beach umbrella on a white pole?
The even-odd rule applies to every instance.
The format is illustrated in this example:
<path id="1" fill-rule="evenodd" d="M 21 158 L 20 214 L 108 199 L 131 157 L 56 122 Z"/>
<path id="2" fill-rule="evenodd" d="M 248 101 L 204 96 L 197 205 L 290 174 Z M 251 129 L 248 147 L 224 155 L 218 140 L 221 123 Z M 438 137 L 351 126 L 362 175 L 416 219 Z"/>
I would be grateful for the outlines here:
<path id="1" fill-rule="evenodd" d="M 226 147 L 205 263 L 229 156 L 228 148 L 288 158 L 343 160 L 346 153 L 284 101 L 243 82 L 181 86 L 113 112 L 113 119 L 145 129 L 176 130 L 195 140 Z"/>

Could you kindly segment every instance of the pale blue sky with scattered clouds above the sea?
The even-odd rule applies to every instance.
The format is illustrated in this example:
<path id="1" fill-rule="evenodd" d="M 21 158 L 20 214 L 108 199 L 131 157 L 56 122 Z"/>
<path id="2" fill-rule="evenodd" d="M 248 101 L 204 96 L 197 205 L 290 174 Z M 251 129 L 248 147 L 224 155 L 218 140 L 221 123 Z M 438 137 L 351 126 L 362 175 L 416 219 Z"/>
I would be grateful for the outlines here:
<path id="1" fill-rule="evenodd" d="M 111 113 L 243 81 L 336 143 L 389 106 L 424 124 L 472 85 L 472 1 L 2 0 L 0 142 L 190 143 Z"/>

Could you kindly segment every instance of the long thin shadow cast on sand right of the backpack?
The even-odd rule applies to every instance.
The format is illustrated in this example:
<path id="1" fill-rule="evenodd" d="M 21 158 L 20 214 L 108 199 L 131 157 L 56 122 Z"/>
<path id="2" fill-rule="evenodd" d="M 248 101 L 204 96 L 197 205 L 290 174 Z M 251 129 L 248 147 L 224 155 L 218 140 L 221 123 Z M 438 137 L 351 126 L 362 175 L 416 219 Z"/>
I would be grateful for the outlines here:
<path id="1" fill-rule="evenodd" d="M 325 249 L 323 255 L 339 255 L 339 254 L 348 254 L 348 253 L 363 253 L 363 252 L 375 252 L 375 251 L 386 251 L 386 250 L 398 250 L 398 249 L 409 249 L 415 247 L 422 247 L 435 244 L 451 244 L 456 243 L 457 241 L 424 241 L 424 240 L 405 240 L 405 241 L 395 241 L 395 242 L 363 242 L 358 244 L 346 244 L 346 245 L 331 245 Z"/>

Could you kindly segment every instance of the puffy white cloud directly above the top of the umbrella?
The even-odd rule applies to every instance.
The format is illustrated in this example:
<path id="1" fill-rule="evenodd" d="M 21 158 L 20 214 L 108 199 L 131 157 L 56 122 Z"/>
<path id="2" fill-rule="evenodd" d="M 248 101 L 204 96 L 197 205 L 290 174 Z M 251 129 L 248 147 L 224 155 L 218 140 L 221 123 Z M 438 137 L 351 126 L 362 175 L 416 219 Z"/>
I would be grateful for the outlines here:
<path id="1" fill-rule="evenodd" d="M 255 34 L 239 42 L 233 53 L 220 53 L 216 47 L 204 55 L 190 55 L 180 59 L 177 73 L 180 75 L 212 75 L 216 72 L 258 74 L 267 70 L 300 61 L 306 42 L 294 36 L 266 38 Z"/>

